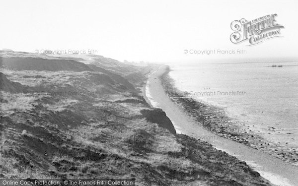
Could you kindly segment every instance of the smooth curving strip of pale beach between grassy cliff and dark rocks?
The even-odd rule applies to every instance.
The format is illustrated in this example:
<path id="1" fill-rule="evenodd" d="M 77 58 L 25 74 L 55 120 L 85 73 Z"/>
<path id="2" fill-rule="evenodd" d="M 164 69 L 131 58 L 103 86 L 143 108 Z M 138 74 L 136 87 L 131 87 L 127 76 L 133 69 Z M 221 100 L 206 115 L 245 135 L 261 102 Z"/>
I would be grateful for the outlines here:
<path id="1" fill-rule="evenodd" d="M 168 66 L 162 65 L 149 75 L 144 97 L 153 107 L 161 108 L 175 125 L 177 133 L 183 133 L 211 143 L 217 149 L 245 161 L 265 179 L 278 186 L 295 186 L 298 183 L 298 167 L 281 159 L 251 148 L 244 143 L 219 136 L 200 125 L 193 117 L 175 104 L 166 94 L 160 77 Z"/>

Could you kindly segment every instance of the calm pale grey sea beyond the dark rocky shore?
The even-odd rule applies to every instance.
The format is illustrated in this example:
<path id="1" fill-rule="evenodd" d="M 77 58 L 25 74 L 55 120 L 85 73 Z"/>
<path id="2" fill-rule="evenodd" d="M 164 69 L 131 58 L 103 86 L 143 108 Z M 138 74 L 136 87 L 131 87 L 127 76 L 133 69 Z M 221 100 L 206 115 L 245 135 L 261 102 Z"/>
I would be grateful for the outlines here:
<path id="1" fill-rule="evenodd" d="M 169 65 L 180 90 L 224 108 L 268 141 L 298 149 L 298 62 Z"/>

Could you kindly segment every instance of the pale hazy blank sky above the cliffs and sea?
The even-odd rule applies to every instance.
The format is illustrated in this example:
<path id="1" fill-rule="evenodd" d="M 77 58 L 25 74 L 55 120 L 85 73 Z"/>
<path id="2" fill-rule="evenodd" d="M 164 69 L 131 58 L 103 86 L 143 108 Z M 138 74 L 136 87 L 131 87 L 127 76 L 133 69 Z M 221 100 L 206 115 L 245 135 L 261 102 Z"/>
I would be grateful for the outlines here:
<path id="1" fill-rule="evenodd" d="M 298 59 L 297 12 L 297 0 L 1 0 L 0 49 L 94 50 L 135 62 L 287 61 Z M 283 37 L 231 43 L 232 21 L 274 13 Z"/>

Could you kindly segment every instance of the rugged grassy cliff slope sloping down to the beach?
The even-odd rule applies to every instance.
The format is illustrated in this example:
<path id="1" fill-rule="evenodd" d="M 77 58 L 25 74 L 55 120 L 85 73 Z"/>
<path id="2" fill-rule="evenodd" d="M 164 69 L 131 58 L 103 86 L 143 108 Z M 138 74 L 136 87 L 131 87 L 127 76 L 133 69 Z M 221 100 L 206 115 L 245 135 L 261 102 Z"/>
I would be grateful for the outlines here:
<path id="1" fill-rule="evenodd" d="M 104 68 L 111 60 L 101 57 L 93 67 L 47 57 L 32 63 L 34 54 L 15 55 L 24 59 L 6 56 L 0 74 L 0 178 L 270 185 L 245 162 L 176 134 L 166 114 L 140 95 L 150 66 L 125 64 L 122 69 L 123 64 L 112 61 Z M 125 78 L 133 73 L 142 78 Z"/>

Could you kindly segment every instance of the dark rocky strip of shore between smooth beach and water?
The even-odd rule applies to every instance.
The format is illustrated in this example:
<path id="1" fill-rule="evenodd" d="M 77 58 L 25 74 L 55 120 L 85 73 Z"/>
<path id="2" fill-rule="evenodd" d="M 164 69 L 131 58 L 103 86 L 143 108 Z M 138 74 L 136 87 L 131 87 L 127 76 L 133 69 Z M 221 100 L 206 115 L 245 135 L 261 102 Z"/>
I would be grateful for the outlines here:
<path id="1" fill-rule="evenodd" d="M 182 107 L 188 115 L 195 118 L 197 122 L 202 124 L 209 131 L 221 137 L 263 151 L 298 167 L 298 152 L 290 149 L 286 151 L 286 149 L 269 143 L 262 136 L 245 130 L 243 125 L 231 122 L 232 119 L 225 115 L 224 110 L 183 95 L 183 93 L 174 86 L 174 80 L 169 77 L 169 71 L 170 70 L 165 71 L 160 76 L 164 91 L 173 102 Z"/>

